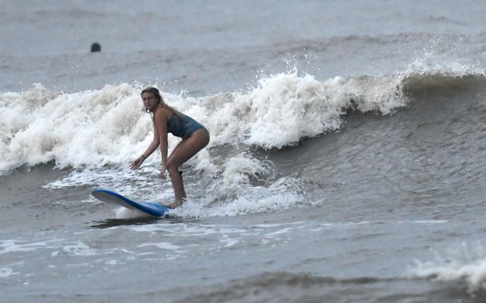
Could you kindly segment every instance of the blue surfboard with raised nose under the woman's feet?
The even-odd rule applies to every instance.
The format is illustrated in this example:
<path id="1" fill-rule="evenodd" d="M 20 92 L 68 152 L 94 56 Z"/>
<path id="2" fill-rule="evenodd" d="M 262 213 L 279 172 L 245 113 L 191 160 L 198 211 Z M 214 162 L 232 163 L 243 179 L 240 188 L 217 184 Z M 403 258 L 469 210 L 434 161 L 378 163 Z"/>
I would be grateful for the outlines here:
<path id="1" fill-rule="evenodd" d="M 152 202 L 136 202 L 109 189 L 95 189 L 91 193 L 100 201 L 117 204 L 131 210 L 139 210 L 155 217 L 162 217 L 170 208 Z"/>

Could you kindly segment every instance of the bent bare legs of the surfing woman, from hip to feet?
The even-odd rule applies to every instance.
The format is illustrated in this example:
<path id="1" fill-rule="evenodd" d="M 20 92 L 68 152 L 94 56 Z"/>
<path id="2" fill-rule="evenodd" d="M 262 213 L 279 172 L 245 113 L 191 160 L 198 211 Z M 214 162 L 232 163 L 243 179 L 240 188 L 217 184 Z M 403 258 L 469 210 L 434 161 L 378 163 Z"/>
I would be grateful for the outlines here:
<path id="1" fill-rule="evenodd" d="M 209 133 L 205 129 L 197 130 L 192 136 L 180 142 L 167 159 L 167 171 L 174 187 L 175 201 L 168 204 L 169 207 L 182 205 L 182 199 L 186 197 L 179 166 L 194 157 L 195 154 L 209 143 Z"/>

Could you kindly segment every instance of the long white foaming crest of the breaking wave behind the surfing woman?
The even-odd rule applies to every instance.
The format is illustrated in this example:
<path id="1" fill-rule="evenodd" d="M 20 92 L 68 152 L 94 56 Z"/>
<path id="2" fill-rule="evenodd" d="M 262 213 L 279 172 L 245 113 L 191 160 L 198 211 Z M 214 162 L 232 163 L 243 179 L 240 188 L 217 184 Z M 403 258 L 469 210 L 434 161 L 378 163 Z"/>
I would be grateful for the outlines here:
<path id="1" fill-rule="evenodd" d="M 339 130 L 349 109 L 389 115 L 431 88 L 451 85 L 465 90 L 482 87 L 484 73 L 469 66 L 416 61 L 396 75 L 318 81 L 291 71 L 262 77 L 247 91 L 200 98 L 163 95 L 171 106 L 210 130 L 209 147 L 244 144 L 270 149 Z M 126 83 L 74 93 L 36 84 L 26 92 L 1 93 L 0 171 L 50 161 L 75 168 L 132 161 L 153 137 L 139 91 Z M 170 136 L 169 145 L 177 141 Z"/>

